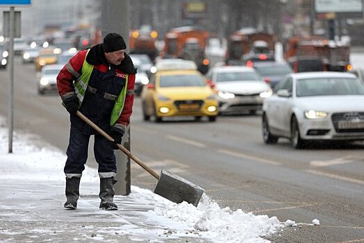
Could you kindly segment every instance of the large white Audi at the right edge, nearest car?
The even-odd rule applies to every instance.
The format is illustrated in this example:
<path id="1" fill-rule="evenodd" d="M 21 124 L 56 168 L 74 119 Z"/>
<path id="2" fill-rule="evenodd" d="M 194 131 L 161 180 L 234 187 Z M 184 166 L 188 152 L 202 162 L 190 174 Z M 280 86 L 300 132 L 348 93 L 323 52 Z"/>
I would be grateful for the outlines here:
<path id="1" fill-rule="evenodd" d="M 309 140 L 364 140 L 364 84 L 354 74 L 288 74 L 265 100 L 263 140 L 288 137 L 295 149 Z"/>

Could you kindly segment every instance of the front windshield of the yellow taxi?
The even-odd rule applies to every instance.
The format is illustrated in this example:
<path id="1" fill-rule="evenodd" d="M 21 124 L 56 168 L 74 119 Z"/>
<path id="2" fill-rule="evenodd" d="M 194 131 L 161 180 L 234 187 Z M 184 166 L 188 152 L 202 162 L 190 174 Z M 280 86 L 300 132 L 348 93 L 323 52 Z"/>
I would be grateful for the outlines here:
<path id="1" fill-rule="evenodd" d="M 199 75 L 164 75 L 160 76 L 160 87 L 205 86 L 204 79 Z"/>

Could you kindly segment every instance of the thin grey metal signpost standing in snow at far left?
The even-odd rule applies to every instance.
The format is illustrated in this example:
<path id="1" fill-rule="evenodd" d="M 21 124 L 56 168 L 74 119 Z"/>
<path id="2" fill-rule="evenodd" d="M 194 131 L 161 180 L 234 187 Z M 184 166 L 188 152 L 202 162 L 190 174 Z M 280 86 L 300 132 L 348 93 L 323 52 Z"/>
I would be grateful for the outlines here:
<path id="1" fill-rule="evenodd" d="M 10 7 L 10 47 L 9 47 L 9 97 L 8 97 L 8 153 L 13 153 L 13 118 L 14 118 L 14 35 L 15 35 L 15 7 Z"/>

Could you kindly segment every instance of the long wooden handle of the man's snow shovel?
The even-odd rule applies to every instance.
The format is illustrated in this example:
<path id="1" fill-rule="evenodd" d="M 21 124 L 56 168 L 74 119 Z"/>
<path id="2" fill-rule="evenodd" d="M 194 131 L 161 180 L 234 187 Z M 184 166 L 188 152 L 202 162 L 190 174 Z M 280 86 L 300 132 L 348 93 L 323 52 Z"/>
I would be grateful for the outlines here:
<path id="1" fill-rule="evenodd" d="M 107 140 L 114 142 L 115 140 L 113 139 L 113 137 L 111 137 L 110 135 L 108 135 L 108 133 L 105 133 L 104 130 L 102 130 L 101 128 L 99 128 L 99 126 L 97 126 L 96 124 L 94 124 L 90 119 L 88 119 L 88 117 L 85 117 L 85 115 L 83 115 L 80 111 L 77 110 L 78 117 L 80 117 L 81 119 L 83 119 L 83 121 L 85 121 L 85 123 L 87 123 L 88 125 L 90 125 L 92 128 L 94 128 L 95 131 L 97 131 L 97 133 L 100 133 L 102 136 L 104 136 Z M 153 169 L 151 169 L 150 167 L 148 167 L 144 162 L 142 162 L 142 160 L 136 158 L 133 153 L 131 153 L 128 149 L 125 149 L 124 146 L 122 146 L 122 144 L 116 144 L 117 147 L 126 154 L 126 156 L 128 156 L 129 158 L 131 158 L 132 160 L 134 160 L 138 165 L 140 165 L 143 169 L 145 169 L 149 174 L 151 174 L 152 176 L 154 176 L 154 178 L 156 178 L 157 180 L 159 179 L 159 175 L 156 171 L 154 171 Z"/>

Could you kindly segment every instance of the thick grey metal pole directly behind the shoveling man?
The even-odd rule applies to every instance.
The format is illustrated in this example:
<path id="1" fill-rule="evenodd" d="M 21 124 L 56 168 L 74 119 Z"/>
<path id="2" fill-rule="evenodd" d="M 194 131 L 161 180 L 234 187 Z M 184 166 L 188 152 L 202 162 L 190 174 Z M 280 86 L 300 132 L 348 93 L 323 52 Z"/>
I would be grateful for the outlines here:
<path id="1" fill-rule="evenodd" d="M 119 33 L 124 37 L 126 47 L 129 47 L 129 0 L 102 0 L 101 35 Z M 127 129 L 123 139 L 123 146 L 130 149 L 130 128 Z M 128 195 L 131 192 L 130 158 L 121 151 L 115 151 L 117 175 L 115 194 Z"/>

